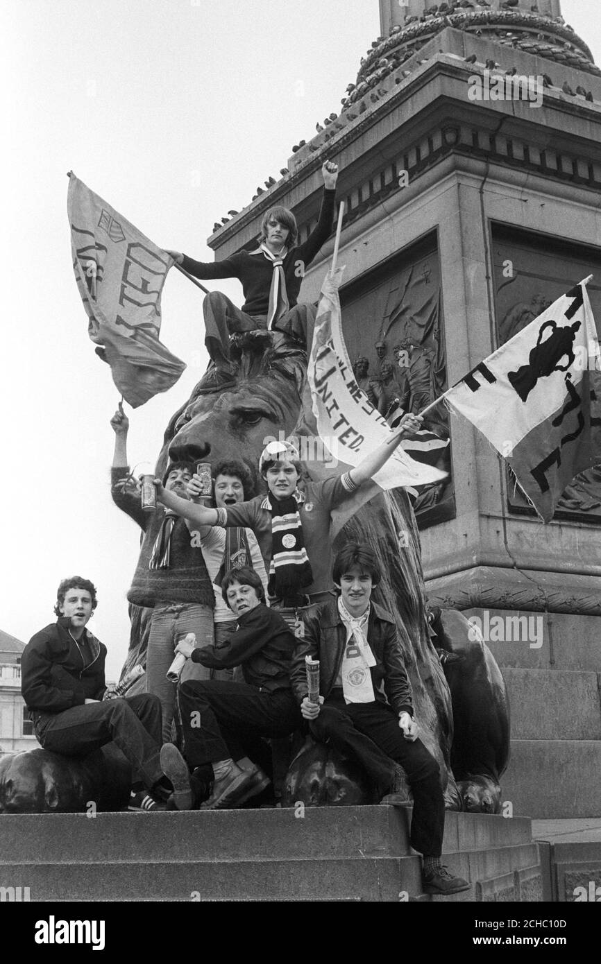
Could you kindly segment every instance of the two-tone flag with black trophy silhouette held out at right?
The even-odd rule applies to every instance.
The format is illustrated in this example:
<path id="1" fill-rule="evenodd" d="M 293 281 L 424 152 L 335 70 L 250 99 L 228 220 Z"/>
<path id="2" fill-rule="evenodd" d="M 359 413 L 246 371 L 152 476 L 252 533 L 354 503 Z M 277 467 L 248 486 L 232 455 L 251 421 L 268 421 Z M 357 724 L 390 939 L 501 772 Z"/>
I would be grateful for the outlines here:
<path id="1" fill-rule="evenodd" d="M 504 456 L 543 522 L 601 462 L 601 357 L 587 279 L 445 393 Z"/>

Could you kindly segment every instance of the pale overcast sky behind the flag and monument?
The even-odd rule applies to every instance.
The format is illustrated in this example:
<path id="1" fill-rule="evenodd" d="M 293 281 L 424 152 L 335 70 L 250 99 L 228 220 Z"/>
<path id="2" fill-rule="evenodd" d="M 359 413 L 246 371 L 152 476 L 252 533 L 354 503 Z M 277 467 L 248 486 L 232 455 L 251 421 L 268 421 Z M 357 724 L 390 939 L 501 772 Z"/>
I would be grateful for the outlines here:
<path id="1" fill-rule="evenodd" d="M 601 64 L 599 0 L 562 13 Z M 338 113 L 379 34 L 377 0 L 2 0 L 4 572 L 0 629 L 54 619 L 61 578 L 92 578 L 91 629 L 119 675 L 139 532 L 113 506 L 118 393 L 75 285 L 69 170 L 162 247 L 212 260 L 214 221 L 240 210 L 317 120 Z M 553 71 L 552 71 L 553 72 Z M 216 282 L 209 287 L 217 287 Z M 219 287 L 241 305 L 236 281 Z M 175 271 L 161 339 L 189 364 L 130 414 L 130 463 L 153 463 L 205 368 L 202 295 Z M 191 363 L 192 362 L 192 363 Z"/>

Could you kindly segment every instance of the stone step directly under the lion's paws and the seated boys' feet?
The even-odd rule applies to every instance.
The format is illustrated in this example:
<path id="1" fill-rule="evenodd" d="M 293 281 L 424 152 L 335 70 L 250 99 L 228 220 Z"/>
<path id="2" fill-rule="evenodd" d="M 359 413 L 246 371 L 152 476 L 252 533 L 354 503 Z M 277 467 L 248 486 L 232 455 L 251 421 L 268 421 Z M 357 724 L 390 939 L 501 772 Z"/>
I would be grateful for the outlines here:
<path id="1" fill-rule="evenodd" d="M 211 860 L 313 860 L 402 857 L 410 808 L 314 807 L 295 810 L 159 814 L 3 814 L 3 863 Z M 448 813 L 446 850 L 530 844 L 528 819 Z"/>

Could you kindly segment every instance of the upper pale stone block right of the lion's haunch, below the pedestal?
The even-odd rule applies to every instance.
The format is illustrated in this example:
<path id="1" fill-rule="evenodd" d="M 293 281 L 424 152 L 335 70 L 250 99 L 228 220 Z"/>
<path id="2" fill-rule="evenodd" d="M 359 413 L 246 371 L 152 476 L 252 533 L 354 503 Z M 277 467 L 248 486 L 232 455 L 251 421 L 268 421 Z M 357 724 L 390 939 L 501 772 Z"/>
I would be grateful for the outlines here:
<path id="1" fill-rule="evenodd" d="M 596 673 L 504 667 L 512 739 L 601 739 Z"/>

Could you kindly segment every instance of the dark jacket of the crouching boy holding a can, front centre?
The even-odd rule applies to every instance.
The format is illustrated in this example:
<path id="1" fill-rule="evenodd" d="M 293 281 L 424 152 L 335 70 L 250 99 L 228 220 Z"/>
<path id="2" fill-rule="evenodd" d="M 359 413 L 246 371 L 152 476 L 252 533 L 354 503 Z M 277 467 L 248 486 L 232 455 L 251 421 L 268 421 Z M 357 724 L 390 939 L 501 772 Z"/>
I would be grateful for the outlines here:
<path id="1" fill-rule="evenodd" d="M 191 658 L 215 669 L 241 664 L 246 683 L 273 693 L 290 688 L 290 659 L 295 644 L 282 616 L 260 603 L 240 616 L 226 646 L 196 649 Z"/>

